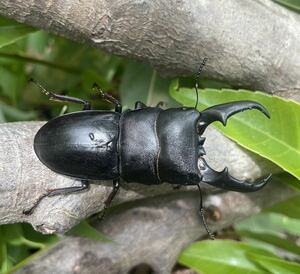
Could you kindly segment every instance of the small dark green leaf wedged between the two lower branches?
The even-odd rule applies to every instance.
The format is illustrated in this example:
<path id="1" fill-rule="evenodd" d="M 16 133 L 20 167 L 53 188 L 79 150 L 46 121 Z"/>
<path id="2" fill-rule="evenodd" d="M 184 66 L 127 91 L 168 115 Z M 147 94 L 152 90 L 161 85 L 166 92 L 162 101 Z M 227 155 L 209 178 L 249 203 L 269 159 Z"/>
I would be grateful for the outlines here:
<path id="1" fill-rule="evenodd" d="M 87 221 L 82 221 L 78 225 L 74 226 L 67 235 L 81 236 L 97 241 L 110 241 L 108 237 L 93 228 Z"/>

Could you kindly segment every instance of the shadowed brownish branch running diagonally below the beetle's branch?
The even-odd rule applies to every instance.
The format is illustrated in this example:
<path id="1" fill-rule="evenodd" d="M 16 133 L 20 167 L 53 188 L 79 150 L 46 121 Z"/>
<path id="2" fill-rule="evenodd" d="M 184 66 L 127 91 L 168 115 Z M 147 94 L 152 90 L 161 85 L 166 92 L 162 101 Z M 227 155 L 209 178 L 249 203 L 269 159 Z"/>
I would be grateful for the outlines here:
<path id="1" fill-rule="evenodd" d="M 206 199 L 210 226 L 220 230 L 292 195 L 291 190 L 276 183 L 252 194 L 211 195 Z M 198 195 L 193 192 L 127 203 L 96 225 L 112 242 L 67 238 L 16 273 L 125 274 L 147 264 L 157 274 L 169 274 L 182 249 L 206 235 L 198 208 Z"/>

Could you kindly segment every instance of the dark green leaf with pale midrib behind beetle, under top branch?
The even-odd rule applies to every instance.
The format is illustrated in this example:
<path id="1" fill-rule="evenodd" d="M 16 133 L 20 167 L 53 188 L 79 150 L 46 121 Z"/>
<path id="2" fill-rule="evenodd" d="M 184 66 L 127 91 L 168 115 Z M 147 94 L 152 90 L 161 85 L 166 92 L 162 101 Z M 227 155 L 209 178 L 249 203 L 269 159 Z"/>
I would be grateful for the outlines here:
<path id="1" fill-rule="evenodd" d="M 136 101 L 147 106 L 162 101 L 170 107 L 174 102 L 167 93 L 169 85 L 170 80 L 161 78 L 150 66 L 129 61 L 120 85 L 121 102 L 127 108 L 132 108 Z"/>

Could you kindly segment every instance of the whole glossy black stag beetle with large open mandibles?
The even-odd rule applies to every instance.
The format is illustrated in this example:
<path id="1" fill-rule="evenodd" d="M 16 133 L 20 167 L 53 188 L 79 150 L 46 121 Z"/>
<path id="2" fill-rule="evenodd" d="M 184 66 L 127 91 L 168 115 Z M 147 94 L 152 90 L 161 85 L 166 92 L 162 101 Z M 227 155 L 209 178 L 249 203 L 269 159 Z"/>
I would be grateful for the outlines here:
<path id="1" fill-rule="evenodd" d="M 122 112 L 120 102 L 95 84 L 94 90 L 115 105 L 115 111 L 101 111 L 91 110 L 88 101 L 55 94 L 31 81 L 51 100 L 83 104 L 82 111 L 47 122 L 34 138 L 34 151 L 44 165 L 80 179 L 82 184 L 48 191 L 24 214 L 31 214 L 44 197 L 83 191 L 93 180 L 113 181 L 106 209 L 120 188 L 121 178 L 128 183 L 149 185 L 163 182 L 195 185 L 201 194 L 201 182 L 226 190 L 251 192 L 261 189 L 271 176 L 253 184 L 233 178 L 227 168 L 221 172 L 213 170 L 203 158 L 202 134 L 212 122 L 220 121 L 225 126 L 230 116 L 249 109 L 270 117 L 257 102 L 229 102 L 199 112 L 188 107 L 164 110 L 138 101 L 134 110 Z M 203 211 L 202 199 L 200 211 Z"/>

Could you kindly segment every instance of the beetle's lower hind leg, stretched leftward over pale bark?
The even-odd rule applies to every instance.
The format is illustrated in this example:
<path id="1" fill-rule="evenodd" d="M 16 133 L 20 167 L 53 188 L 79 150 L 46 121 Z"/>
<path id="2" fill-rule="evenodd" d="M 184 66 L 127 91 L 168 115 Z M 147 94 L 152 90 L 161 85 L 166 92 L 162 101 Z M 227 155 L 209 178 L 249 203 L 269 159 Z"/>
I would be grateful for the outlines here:
<path id="1" fill-rule="evenodd" d="M 53 197 L 53 196 L 57 196 L 57 195 L 67 195 L 67 194 L 72 194 L 75 192 L 81 192 L 83 190 L 88 189 L 89 186 L 90 186 L 89 181 L 82 180 L 81 186 L 63 187 L 63 188 L 48 190 L 47 193 L 45 193 L 39 197 L 39 199 L 34 203 L 34 205 L 30 209 L 23 210 L 23 214 L 25 214 L 25 215 L 32 214 L 33 210 L 39 205 L 41 200 L 44 199 L 45 197 Z"/>

